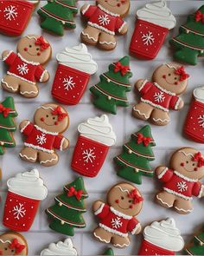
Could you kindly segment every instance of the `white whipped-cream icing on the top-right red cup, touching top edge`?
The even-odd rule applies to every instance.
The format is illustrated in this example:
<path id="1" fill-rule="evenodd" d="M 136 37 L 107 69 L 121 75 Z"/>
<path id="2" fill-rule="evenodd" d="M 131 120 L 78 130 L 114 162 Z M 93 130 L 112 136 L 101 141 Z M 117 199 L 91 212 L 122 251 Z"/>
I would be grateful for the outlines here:
<path id="1" fill-rule="evenodd" d="M 137 18 L 169 30 L 175 28 L 176 24 L 175 16 L 165 1 L 147 3 L 142 9 L 137 10 Z"/>

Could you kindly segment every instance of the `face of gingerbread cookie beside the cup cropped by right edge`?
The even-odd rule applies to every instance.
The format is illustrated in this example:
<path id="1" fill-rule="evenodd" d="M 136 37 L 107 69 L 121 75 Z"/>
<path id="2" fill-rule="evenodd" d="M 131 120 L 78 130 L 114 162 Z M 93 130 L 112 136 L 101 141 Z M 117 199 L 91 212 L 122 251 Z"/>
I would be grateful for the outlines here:
<path id="1" fill-rule="evenodd" d="M 157 68 L 153 74 L 153 82 L 163 86 L 163 89 L 181 95 L 188 85 L 188 74 L 178 63 L 172 62 L 163 64 Z"/>

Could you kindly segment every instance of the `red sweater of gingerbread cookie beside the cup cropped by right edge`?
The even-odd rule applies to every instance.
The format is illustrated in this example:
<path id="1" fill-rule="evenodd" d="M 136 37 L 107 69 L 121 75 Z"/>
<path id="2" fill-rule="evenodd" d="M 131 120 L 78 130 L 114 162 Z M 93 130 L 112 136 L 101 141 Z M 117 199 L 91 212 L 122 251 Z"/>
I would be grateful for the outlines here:
<path id="1" fill-rule="evenodd" d="M 139 88 L 142 95 L 141 101 L 150 104 L 155 108 L 160 108 L 165 112 L 169 112 L 169 108 L 177 109 L 181 98 L 171 93 L 156 82 L 145 80 Z"/>

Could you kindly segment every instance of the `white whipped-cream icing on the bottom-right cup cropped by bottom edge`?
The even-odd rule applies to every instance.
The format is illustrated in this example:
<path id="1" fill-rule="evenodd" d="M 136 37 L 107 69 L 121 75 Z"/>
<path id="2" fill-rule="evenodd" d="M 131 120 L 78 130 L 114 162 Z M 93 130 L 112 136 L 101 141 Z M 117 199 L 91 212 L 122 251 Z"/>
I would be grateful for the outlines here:
<path id="1" fill-rule="evenodd" d="M 184 240 L 172 218 L 155 221 L 150 226 L 146 226 L 143 237 L 151 244 L 173 252 L 181 251 L 184 246 Z"/>

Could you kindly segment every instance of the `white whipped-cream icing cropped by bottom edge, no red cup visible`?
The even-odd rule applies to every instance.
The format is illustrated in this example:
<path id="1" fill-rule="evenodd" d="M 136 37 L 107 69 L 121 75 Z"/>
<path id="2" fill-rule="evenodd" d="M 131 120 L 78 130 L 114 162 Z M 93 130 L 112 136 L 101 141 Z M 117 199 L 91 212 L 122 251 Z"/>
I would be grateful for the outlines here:
<path id="1" fill-rule="evenodd" d="M 64 242 L 59 241 L 58 243 L 50 244 L 48 248 L 41 251 L 41 256 L 44 255 L 67 255 L 73 256 L 77 255 L 76 249 L 73 247 L 73 242 L 71 239 L 67 239 Z"/>

